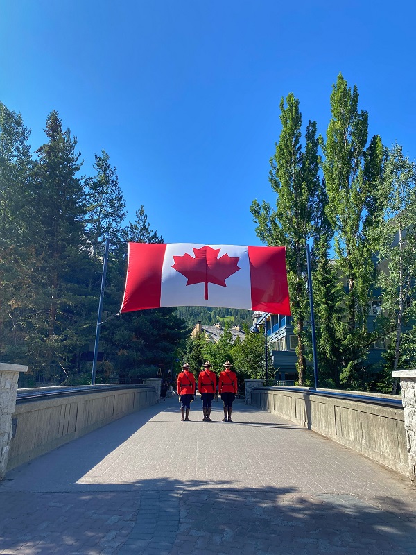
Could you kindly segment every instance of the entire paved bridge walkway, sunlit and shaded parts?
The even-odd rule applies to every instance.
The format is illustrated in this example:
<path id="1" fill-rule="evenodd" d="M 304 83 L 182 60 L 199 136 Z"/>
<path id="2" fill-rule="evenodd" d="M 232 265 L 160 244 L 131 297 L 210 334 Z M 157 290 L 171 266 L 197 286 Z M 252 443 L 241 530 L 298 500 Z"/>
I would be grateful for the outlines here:
<path id="1" fill-rule="evenodd" d="M 8 472 L 0 553 L 416 555 L 406 477 L 241 400 L 234 423 L 191 409 L 166 400 Z"/>

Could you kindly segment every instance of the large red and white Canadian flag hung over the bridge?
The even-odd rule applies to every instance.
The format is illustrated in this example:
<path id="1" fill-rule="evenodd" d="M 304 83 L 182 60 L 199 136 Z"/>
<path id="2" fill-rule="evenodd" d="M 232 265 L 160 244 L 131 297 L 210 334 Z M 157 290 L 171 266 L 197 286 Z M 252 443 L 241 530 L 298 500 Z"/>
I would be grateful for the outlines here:
<path id="1" fill-rule="evenodd" d="M 290 316 L 284 247 L 128 244 L 121 312 L 228 307 Z"/>

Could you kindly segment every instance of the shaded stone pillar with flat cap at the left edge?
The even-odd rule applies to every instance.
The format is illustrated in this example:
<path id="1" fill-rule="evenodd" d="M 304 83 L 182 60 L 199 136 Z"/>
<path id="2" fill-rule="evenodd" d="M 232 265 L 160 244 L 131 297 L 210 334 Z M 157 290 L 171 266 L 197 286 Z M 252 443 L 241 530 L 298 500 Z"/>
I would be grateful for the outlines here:
<path id="1" fill-rule="evenodd" d="M 12 439 L 12 414 L 15 412 L 17 379 L 27 366 L 0 362 L 0 480 L 6 474 L 10 441 Z"/>

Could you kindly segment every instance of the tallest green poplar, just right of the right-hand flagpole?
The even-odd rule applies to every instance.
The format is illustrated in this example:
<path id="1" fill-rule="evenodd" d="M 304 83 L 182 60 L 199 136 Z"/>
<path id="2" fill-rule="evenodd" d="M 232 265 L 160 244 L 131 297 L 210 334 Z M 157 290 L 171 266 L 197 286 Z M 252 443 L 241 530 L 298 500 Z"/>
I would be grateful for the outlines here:
<path id="1" fill-rule="evenodd" d="M 381 214 L 376 191 L 385 151 L 379 135 L 367 146 L 368 113 L 358 110 L 357 87 L 348 87 L 341 74 L 333 85 L 331 114 L 326 140 L 320 137 L 320 145 L 337 269 L 348 287 L 345 345 L 350 352 L 345 363 L 349 364 L 347 373 L 352 373 L 368 343 L 367 314 L 375 283 L 370 230 Z"/>

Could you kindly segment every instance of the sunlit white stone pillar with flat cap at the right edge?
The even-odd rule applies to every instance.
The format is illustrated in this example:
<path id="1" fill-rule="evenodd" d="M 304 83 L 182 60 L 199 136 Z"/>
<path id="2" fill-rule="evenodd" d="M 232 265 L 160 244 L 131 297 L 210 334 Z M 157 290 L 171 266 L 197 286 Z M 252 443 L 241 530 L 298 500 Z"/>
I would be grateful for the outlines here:
<path id="1" fill-rule="evenodd" d="M 393 377 L 400 379 L 401 402 L 404 407 L 409 474 L 416 486 L 416 370 L 397 370 Z"/>

